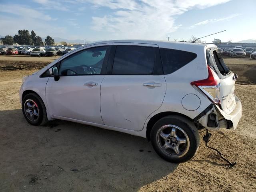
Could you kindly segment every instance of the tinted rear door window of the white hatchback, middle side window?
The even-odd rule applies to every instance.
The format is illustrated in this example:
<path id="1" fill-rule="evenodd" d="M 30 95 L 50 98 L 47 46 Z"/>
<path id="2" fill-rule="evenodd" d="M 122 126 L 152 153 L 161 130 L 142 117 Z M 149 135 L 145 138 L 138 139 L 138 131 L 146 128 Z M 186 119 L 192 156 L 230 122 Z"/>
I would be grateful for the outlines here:
<path id="1" fill-rule="evenodd" d="M 152 74 L 154 48 L 144 46 L 117 46 L 112 74 Z"/>

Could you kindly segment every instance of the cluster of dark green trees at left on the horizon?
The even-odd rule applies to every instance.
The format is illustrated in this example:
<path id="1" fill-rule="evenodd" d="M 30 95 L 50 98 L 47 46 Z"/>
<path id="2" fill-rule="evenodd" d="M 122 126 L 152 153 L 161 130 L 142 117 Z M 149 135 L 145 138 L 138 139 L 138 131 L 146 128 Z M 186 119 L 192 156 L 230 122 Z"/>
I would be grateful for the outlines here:
<path id="1" fill-rule="evenodd" d="M 42 38 L 32 30 L 31 34 L 28 30 L 18 30 L 18 34 L 11 36 L 6 35 L 1 38 L 1 41 L 5 45 L 13 45 L 14 43 L 20 45 L 34 45 L 34 46 L 42 46 L 42 45 L 54 45 L 54 39 L 49 35 L 46 37 L 45 41 L 42 41 Z"/>

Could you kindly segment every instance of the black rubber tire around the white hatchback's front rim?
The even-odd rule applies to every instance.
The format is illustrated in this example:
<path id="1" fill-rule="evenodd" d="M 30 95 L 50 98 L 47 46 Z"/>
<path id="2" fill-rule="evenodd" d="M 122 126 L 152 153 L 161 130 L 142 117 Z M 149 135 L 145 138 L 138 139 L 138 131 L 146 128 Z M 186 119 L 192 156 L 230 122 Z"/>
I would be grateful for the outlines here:
<path id="1" fill-rule="evenodd" d="M 32 100 L 37 105 L 38 118 L 36 120 L 31 120 L 28 117 L 29 116 L 28 113 L 26 112 L 25 105 L 27 104 L 28 100 Z M 22 100 L 22 112 L 23 112 L 25 119 L 32 125 L 35 125 L 35 126 L 45 125 L 48 122 L 44 102 L 35 93 L 29 93 L 26 96 L 24 96 L 24 98 Z"/>

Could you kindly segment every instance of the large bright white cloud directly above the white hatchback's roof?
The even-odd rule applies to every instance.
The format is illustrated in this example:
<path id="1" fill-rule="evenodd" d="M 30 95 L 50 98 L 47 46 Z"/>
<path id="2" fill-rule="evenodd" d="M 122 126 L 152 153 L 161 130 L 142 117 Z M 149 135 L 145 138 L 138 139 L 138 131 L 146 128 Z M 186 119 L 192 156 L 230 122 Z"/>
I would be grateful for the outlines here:
<path id="1" fill-rule="evenodd" d="M 161 39 L 174 32 L 176 16 L 192 8 L 207 8 L 229 0 L 76 0 L 90 2 L 93 7 L 107 7 L 110 14 L 92 17 L 92 29 L 109 32 L 114 38 Z"/>

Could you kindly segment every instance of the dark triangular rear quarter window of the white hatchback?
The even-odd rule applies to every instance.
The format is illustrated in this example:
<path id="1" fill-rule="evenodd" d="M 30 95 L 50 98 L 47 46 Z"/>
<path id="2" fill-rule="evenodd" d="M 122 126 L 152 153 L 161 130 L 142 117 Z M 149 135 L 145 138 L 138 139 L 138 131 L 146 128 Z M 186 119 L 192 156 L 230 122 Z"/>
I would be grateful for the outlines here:
<path id="1" fill-rule="evenodd" d="M 171 74 L 196 58 L 196 54 L 176 49 L 160 48 L 164 74 Z"/>

